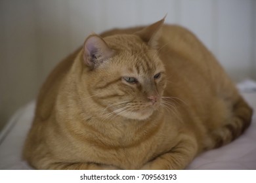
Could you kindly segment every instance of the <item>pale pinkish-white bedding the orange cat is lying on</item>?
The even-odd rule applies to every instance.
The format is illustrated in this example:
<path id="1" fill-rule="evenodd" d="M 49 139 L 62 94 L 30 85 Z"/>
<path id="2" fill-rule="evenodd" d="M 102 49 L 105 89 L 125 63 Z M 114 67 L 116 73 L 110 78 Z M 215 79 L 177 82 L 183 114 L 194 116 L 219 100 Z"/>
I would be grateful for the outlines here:
<path id="1" fill-rule="evenodd" d="M 256 92 L 242 93 L 253 107 L 253 120 L 234 142 L 200 154 L 187 169 L 256 169 Z M 0 134 L 0 169 L 32 169 L 22 161 L 22 146 L 33 118 L 35 102 L 20 108 Z"/>

